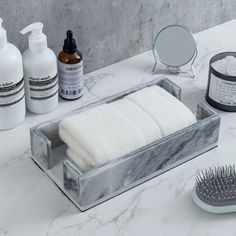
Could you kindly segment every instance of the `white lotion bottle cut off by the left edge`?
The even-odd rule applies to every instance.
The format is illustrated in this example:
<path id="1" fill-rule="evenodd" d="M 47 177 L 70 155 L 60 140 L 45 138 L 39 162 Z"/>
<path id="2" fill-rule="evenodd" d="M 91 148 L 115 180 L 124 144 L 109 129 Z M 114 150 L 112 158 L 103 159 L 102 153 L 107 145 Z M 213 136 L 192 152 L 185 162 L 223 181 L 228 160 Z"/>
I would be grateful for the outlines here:
<path id="1" fill-rule="evenodd" d="M 22 56 L 17 47 L 8 43 L 0 18 L 0 130 L 15 128 L 24 118 Z"/>

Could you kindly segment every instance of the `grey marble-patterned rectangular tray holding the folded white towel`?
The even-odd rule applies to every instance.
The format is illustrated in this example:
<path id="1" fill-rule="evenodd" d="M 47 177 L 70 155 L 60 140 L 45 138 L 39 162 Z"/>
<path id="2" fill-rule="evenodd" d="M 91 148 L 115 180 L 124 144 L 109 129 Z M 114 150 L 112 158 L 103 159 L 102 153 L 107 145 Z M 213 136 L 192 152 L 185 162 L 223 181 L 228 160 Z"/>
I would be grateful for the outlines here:
<path id="1" fill-rule="evenodd" d="M 159 78 L 81 107 L 67 115 L 115 101 L 152 85 L 159 85 L 180 99 L 181 89 L 167 78 Z M 58 124 L 64 117 L 44 122 L 31 129 L 32 159 L 81 211 L 216 147 L 220 128 L 220 116 L 207 105 L 200 103 L 197 107 L 197 123 L 83 173 L 66 156 L 66 145 L 59 138 Z"/>

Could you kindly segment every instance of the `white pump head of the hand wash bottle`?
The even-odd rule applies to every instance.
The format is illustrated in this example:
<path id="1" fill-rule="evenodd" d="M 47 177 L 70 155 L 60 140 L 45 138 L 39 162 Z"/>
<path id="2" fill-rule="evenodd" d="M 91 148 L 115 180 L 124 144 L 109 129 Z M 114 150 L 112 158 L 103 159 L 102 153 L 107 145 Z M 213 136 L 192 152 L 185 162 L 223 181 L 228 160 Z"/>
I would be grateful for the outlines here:
<path id="1" fill-rule="evenodd" d="M 29 49 L 42 52 L 47 48 L 47 36 L 43 33 L 43 23 L 36 22 L 20 31 L 21 34 L 30 33 L 28 37 Z"/>

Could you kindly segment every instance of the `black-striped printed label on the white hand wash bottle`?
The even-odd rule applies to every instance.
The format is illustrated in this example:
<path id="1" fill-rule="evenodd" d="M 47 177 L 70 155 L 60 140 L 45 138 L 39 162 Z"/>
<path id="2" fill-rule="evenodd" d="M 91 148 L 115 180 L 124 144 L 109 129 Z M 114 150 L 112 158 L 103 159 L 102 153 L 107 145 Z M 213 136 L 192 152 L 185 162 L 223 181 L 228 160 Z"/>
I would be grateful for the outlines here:
<path id="1" fill-rule="evenodd" d="M 57 75 L 46 77 L 29 76 L 30 98 L 43 100 L 53 97 L 58 93 Z"/>

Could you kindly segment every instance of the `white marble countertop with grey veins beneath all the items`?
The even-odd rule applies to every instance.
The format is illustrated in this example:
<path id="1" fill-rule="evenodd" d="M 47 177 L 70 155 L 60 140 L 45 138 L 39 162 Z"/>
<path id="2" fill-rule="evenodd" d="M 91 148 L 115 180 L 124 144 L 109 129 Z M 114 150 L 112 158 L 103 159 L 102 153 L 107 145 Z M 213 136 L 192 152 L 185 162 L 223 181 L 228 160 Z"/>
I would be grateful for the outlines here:
<path id="1" fill-rule="evenodd" d="M 170 76 L 193 110 L 205 101 L 208 63 L 220 51 L 236 51 L 236 20 L 195 35 L 196 78 Z M 219 111 L 219 147 L 84 213 L 30 159 L 29 128 L 103 96 L 153 79 L 147 52 L 86 75 L 86 93 L 61 101 L 47 115 L 28 114 L 18 128 L 0 132 L 0 235 L 236 235 L 236 214 L 212 215 L 191 200 L 194 176 L 209 166 L 236 162 L 236 113 Z"/>

